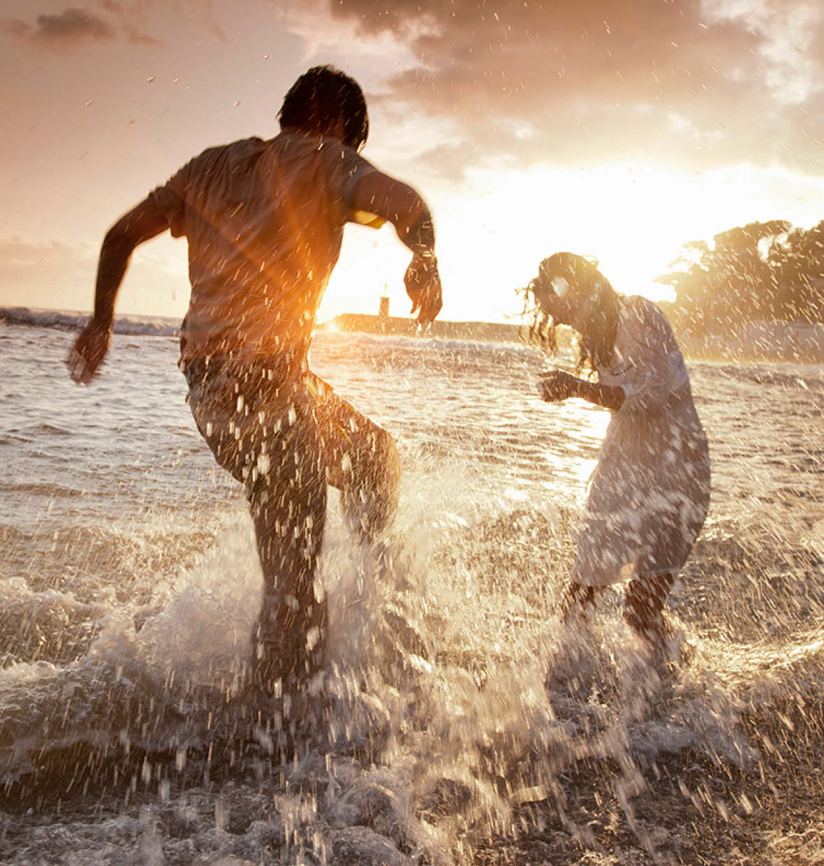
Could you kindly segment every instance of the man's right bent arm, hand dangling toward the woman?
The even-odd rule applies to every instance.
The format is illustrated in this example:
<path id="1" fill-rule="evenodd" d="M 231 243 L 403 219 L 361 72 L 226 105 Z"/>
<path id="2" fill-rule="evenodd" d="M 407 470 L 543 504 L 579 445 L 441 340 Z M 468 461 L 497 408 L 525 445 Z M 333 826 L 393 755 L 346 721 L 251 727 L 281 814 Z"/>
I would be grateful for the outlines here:
<path id="1" fill-rule="evenodd" d="M 381 171 L 364 175 L 350 203 L 353 211 L 375 214 L 395 227 L 400 241 L 412 251 L 403 277 L 412 312 L 428 324 L 441 312 L 441 276 L 435 258 L 435 226 L 426 202 L 409 184 Z"/>

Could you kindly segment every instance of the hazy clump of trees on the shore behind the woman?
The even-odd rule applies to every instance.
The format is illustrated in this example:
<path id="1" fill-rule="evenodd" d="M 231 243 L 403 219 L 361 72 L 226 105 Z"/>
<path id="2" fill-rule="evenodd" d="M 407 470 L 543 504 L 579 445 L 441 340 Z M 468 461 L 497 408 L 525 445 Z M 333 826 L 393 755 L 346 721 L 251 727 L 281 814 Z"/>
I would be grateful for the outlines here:
<path id="1" fill-rule="evenodd" d="M 686 243 L 657 278 L 672 286 L 666 312 L 679 330 L 736 333 L 754 320 L 824 323 L 824 220 L 749 223 Z"/>

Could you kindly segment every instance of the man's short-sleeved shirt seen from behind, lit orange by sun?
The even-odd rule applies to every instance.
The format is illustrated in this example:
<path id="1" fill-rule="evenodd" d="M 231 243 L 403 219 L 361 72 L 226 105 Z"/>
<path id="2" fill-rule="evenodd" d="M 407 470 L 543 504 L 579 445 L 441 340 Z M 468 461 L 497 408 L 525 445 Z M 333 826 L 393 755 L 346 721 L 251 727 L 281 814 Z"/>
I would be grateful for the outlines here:
<path id="1" fill-rule="evenodd" d="M 305 354 L 357 184 L 376 171 L 338 139 L 281 132 L 193 158 L 151 197 L 189 243 L 181 361 Z"/>

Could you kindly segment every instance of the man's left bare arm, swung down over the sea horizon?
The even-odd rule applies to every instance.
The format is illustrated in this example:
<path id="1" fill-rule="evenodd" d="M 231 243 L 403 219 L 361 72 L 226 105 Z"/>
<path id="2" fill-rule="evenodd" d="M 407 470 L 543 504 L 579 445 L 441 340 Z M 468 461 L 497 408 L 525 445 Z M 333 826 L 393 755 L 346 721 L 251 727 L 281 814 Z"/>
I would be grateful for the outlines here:
<path id="1" fill-rule="evenodd" d="M 168 228 L 169 220 L 146 198 L 106 232 L 97 265 L 94 313 L 66 359 L 68 373 L 78 385 L 87 385 L 94 378 L 109 351 L 114 301 L 132 252 Z"/>

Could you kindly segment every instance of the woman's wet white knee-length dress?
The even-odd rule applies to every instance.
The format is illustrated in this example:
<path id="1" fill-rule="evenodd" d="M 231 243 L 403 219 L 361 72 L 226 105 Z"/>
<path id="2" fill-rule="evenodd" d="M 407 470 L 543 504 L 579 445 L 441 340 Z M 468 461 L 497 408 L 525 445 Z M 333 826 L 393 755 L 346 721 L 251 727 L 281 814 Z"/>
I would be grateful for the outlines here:
<path id="1" fill-rule="evenodd" d="M 653 301 L 621 298 L 615 352 L 596 372 L 625 397 L 589 479 L 572 579 L 601 586 L 677 572 L 704 525 L 710 458 L 684 358 Z"/>

